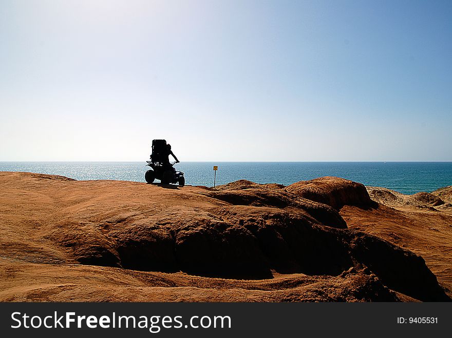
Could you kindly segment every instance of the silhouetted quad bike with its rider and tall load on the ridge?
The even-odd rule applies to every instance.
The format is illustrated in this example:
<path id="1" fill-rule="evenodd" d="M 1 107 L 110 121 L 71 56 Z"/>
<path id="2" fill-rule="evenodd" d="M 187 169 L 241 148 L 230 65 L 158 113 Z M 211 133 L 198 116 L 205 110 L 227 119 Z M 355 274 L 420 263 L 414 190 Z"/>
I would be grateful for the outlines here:
<path id="1" fill-rule="evenodd" d="M 170 163 L 170 155 L 174 157 L 176 162 Z M 176 163 L 179 163 L 179 160 L 171 151 L 171 145 L 166 144 L 165 140 L 152 141 L 152 154 L 150 154 L 150 161 L 146 162 L 147 166 L 152 168 L 144 174 L 147 183 L 153 183 L 157 178 L 163 184 L 178 183 L 181 187 L 185 185 L 183 172 L 176 171 L 173 167 Z"/>

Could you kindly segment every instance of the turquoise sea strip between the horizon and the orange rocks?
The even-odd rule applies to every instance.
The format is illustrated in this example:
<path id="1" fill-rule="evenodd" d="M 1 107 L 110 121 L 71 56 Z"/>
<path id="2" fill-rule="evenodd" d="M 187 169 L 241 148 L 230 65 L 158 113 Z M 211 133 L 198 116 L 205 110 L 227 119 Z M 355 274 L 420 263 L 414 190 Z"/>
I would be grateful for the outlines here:
<path id="1" fill-rule="evenodd" d="M 0 171 L 30 171 L 76 180 L 144 181 L 145 162 L 0 162 Z M 452 162 L 183 162 L 187 185 L 213 186 L 240 180 L 289 185 L 321 176 L 338 176 L 402 193 L 452 185 Z"/>

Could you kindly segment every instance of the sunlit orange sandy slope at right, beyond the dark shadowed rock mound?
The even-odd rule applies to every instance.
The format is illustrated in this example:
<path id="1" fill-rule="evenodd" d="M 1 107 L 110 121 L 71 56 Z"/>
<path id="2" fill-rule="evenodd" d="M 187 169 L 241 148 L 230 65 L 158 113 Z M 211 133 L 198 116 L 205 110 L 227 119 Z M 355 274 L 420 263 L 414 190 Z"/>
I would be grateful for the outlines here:
<path id="1" fill-rule="evenodd" d="M 413 198 L 416 194 L 404 195 L 380 187 L 368 187 L 368 190 L 371 196 L 375 190 L 389 191 L 398 197 L 398 201 L 394 203 L 390 200 L 386 205 L 380 204 L 378 209 L 369 210 L 343 207 L 340 213 L 348 227 L 421 255 L 440 284 L 452 295 L 452 206 L 448 204 L 452 187 L 432 193 L 437 195 L 440 191 L 448 191 L 447 195 L 443 195 L 443 200 L 447 202 L 437 206 L 434 206 L 437 201 L 427 204 Z M 375 200 L 378 201 L 377 198 Z"/>

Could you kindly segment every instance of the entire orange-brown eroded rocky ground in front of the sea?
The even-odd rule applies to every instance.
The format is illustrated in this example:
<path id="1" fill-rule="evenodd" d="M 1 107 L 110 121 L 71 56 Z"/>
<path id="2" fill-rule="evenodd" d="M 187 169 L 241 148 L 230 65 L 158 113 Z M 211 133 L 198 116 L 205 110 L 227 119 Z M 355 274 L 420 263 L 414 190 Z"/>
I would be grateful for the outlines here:
<path id="1" fill-rule="evenodd" d="M 450 301 L 449 188 L 0 172 L 0 301 Z"/>

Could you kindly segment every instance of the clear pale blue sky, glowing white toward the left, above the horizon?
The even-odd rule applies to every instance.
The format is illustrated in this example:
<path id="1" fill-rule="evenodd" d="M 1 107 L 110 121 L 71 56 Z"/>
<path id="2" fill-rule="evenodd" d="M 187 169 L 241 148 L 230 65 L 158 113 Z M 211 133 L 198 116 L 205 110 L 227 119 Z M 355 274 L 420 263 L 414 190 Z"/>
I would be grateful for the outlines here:
<path id="1" fill-rule="evenodd" d="M 452 1 L 0 0 L 0 161 L 452 161 Z"/>

